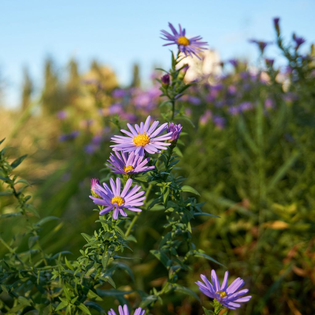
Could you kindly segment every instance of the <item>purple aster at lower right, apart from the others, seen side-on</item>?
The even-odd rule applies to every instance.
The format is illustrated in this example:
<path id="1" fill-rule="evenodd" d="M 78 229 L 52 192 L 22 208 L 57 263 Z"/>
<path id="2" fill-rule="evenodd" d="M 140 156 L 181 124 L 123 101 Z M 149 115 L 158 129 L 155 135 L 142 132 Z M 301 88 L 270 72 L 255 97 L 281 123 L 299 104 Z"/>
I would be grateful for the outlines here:
<path id="1" fill-rule="evenodd" d="M 251 299 L 251 295 L 241 297 L 248 292 L 248 289 L 237 291 L 245 284 L 244 280 L 241 278 L 235 279 L 232 284 L 227 286 L 229 277 L 228 271 L 225 272 L 222 285 L 220 285 L 219 279 L 214 270 L 211 270 L 212 284 L 205 275 L 200 275 L 200 277 L 204 283 L 201 281 L 196 282 L 199 286 L 199 290 L 204 295 L 217 300 L 221 305 L 230 308 L 231 310 L 235 310 L 237 307 L 240 307 L 241 305 L 239 303 L 248 302 Z"/>

